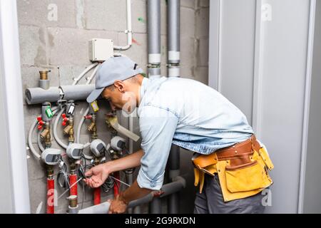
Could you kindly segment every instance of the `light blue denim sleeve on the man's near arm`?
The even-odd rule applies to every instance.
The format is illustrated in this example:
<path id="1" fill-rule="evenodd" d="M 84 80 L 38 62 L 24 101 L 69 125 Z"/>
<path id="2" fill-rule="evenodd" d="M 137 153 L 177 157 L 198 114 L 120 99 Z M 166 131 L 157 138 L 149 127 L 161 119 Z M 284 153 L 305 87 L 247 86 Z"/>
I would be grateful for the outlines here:
<path id="1" fill-rule="evenodd" d="M 146 105 L 139 111 L 141 148 L 144 152 L 137 177 L 139 187 L 161 189 L 177 124 L 177 116 L 166 108 Z"/>

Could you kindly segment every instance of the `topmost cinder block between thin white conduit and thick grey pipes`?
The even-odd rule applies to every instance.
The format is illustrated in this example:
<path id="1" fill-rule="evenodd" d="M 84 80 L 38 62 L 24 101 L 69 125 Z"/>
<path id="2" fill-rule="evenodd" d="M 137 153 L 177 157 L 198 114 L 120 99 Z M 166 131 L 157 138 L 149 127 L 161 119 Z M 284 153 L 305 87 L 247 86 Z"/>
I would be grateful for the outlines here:
<path id="1" fill-rule="evenodd" d="M 132 28 L 134 33 L 147 32 L 147 6 L 146 1 L 133 0 L 131 2 L 132 10 Z M 126 10 L 123 9 L 123 10 Z M 125 20 L 125 18 L 121 20 Z"/>

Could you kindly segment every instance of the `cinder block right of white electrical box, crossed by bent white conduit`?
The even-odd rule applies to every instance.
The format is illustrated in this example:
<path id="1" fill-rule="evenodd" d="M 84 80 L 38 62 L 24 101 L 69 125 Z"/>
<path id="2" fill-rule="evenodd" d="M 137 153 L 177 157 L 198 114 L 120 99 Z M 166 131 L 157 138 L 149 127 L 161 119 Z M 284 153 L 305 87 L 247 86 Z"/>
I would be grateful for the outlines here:
<path id="1" fill-rule="evenodd" d="M 124 33 L 118 33 L 118 46 L 126 45 L 127 36 Z M 131 58 L 133 61 L 138 63 L 139 67 L 143 68 L 143 71 L 146 72 L 146 64 L 147 64 L 147 34 L 143 33 L 135 33 L 133 34 L 133 39 L 135 42 L 133 46 L 129 48 L 127 51 L 121 51 L 124 55 Z"/>

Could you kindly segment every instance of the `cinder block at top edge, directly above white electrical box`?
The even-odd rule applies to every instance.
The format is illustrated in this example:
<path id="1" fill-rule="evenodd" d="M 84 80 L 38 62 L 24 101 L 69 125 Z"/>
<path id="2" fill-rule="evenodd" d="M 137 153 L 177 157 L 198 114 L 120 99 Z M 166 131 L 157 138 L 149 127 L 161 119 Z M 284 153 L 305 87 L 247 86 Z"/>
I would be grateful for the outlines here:
<path id="1" fill-rule="evenodd" d="M 126 0 L 85 0 L 86 28 L 126 30 Z"/>

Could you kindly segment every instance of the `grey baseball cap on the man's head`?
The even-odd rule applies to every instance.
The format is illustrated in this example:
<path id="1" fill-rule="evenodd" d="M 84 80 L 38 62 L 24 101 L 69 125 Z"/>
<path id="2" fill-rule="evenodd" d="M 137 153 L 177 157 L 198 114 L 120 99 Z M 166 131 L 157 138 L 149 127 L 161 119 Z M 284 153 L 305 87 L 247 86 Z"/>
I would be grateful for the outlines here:
<path id="1" fill-rule="evenodd" d="M 113 85 L 116 80 L 124 81 L 143 73 L 138 64 L 126 56 L 108 58 L 98 69 L 96 76 L 96 89 L 88 95 L 87 102 L 92 103 L 107 86 Z"/>

